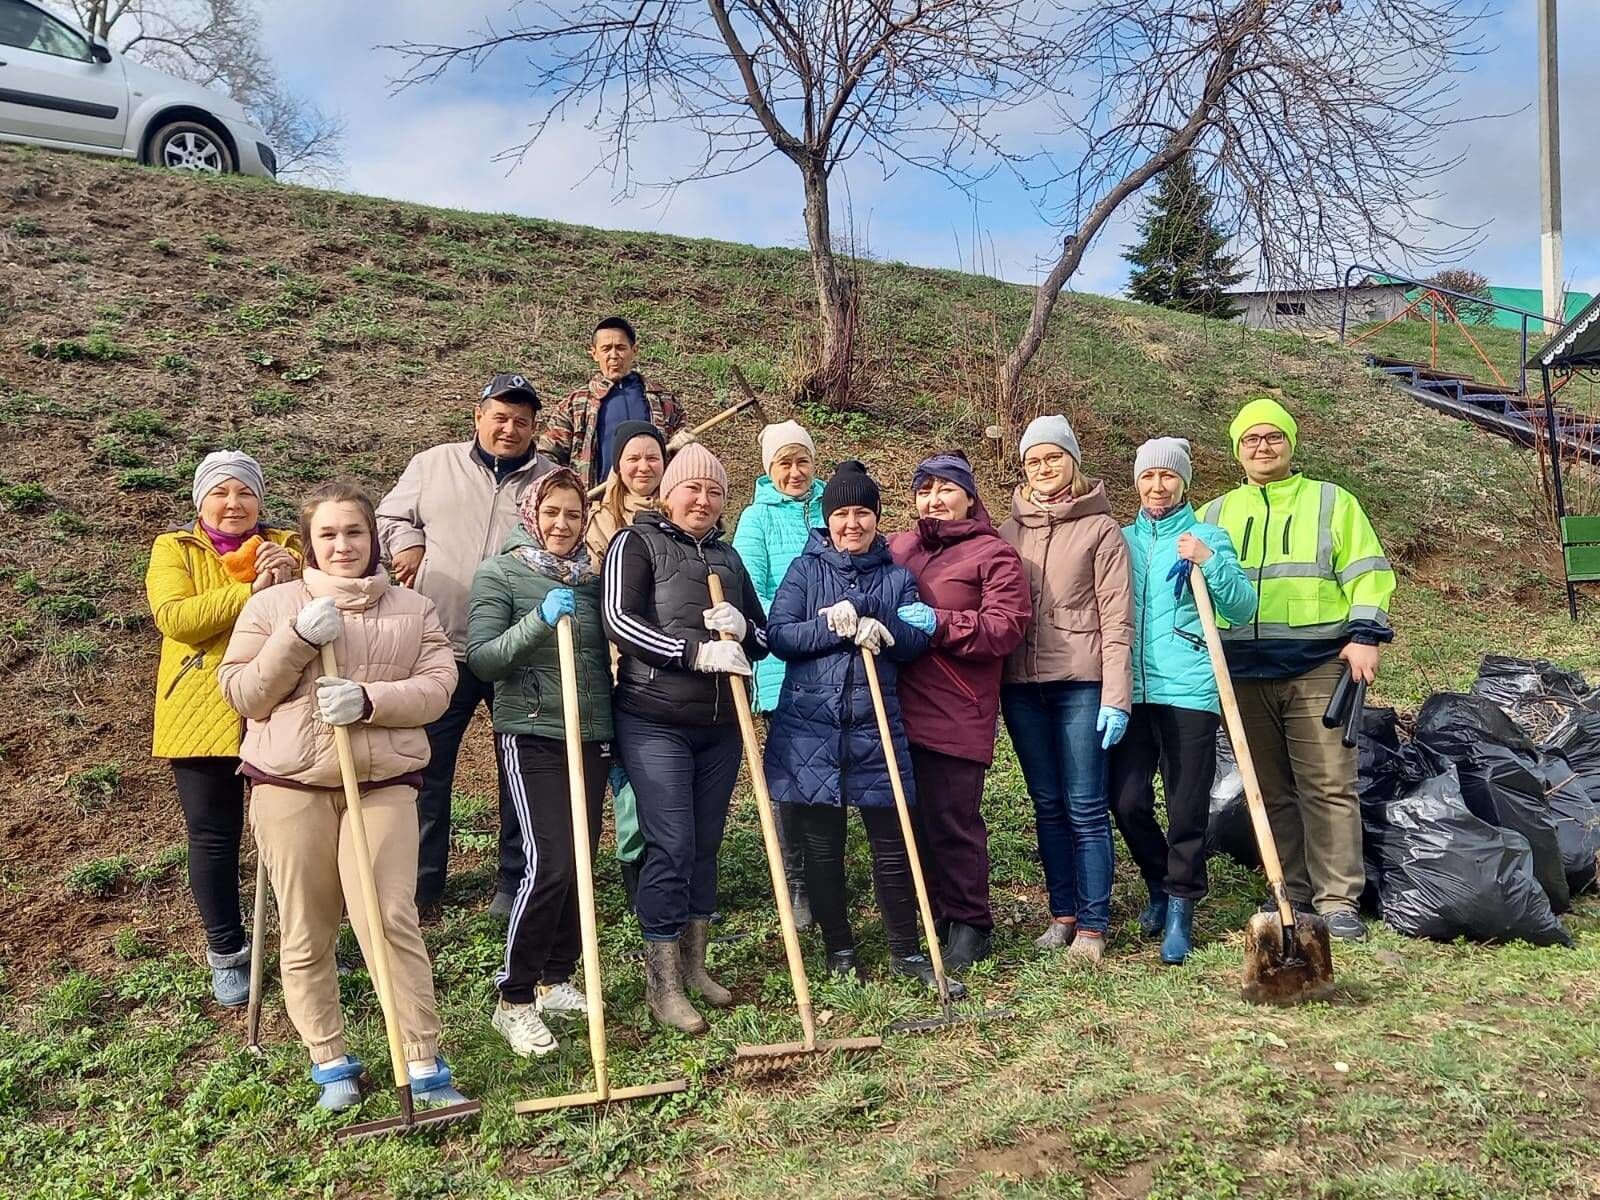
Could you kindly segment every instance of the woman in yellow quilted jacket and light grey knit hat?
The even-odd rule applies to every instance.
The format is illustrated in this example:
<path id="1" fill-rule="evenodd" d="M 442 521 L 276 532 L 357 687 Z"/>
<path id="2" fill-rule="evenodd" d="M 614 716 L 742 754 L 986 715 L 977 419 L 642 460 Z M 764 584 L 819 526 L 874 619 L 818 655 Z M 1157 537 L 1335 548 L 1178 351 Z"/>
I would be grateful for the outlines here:
<path id="1" fill-rule="evenodd" d="M 299 536 L 261 523 L 261 464 L 237 450 L 195 469 L 195 520 L 150 547 L 144 590 L 162 630 L 152 754 L 173 765 L 189 830 L 189 890 L 205 925 L 211 992 L 221 1005 L 250 998 L 250 942 L 238 909 L 245 779 L 240 720 L 216 669 L 245 602 L 299 574 Z"/>

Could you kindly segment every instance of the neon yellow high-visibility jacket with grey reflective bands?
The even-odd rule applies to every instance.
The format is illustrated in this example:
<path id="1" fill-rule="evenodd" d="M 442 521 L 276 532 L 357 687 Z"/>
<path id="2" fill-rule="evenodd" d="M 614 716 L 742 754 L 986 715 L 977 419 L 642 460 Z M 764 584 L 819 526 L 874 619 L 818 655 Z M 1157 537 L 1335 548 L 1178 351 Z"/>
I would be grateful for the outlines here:
<path id="1" fill-rule="evenodd" d="M 1387 642 L 1395 573 L 1360 501 L 1336 483 L 1290 475 L 1218 496 L 1202 520 L 1221 525 L 1256 587 L 1251 622 L 1224 642 Z"/>

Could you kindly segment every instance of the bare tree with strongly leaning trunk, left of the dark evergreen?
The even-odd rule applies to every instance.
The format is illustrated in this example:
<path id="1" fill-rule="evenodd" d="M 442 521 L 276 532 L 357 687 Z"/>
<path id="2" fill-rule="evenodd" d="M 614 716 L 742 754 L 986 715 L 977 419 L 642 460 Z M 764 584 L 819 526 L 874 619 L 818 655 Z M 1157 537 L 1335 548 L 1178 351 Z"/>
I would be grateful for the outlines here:
<path id="1" fill-rule="evenodd" d="M 1326 280 L 1338 262 L 1411 261 L 1472 242 L 1430 219 L 1456 77 L 1478 53 L 1477 0 L 1078 0 L 1064 19 L 1070 162 L 1040 187 L 1059 250 L 1000 371 L 1022 376 L 1062 286 L 1122 205 L 1179 157 L 1240 230 L 1261 286 Z M 1434 245 L 1438 235 L 1451 245 Z"/>

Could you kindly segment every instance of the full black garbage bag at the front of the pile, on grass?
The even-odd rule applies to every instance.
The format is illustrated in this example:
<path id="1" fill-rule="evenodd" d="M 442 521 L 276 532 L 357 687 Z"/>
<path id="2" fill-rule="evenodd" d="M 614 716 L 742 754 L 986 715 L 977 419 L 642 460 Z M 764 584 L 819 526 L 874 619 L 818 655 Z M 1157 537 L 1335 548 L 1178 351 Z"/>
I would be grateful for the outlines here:
<path id="1" fill-rule="evenodd" d="M 1384 922 L 1408 938 L 1571 946 L 1512 829 L 1478 819 L 1454 768 L 1363 813 Z"/>

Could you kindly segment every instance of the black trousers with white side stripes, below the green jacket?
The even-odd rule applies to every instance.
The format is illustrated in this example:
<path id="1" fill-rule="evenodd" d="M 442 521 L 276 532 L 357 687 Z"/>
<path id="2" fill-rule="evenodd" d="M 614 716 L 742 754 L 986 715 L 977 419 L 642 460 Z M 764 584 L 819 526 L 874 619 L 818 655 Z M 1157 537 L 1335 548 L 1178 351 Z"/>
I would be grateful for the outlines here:
<path id="1" fill-rule="evenodd" d="M 512 733 L 496 734 L 494 741 L 526 848 L 506 926 L 506 962 L 494 982 L 506 1003 L 531 1005 L 541 982 L 571 979 L 582 954 L 566 742 Z M 584 742 L 590 862 L 600 848 L 600 806 L 610 773 L 610 742 Z"/>

